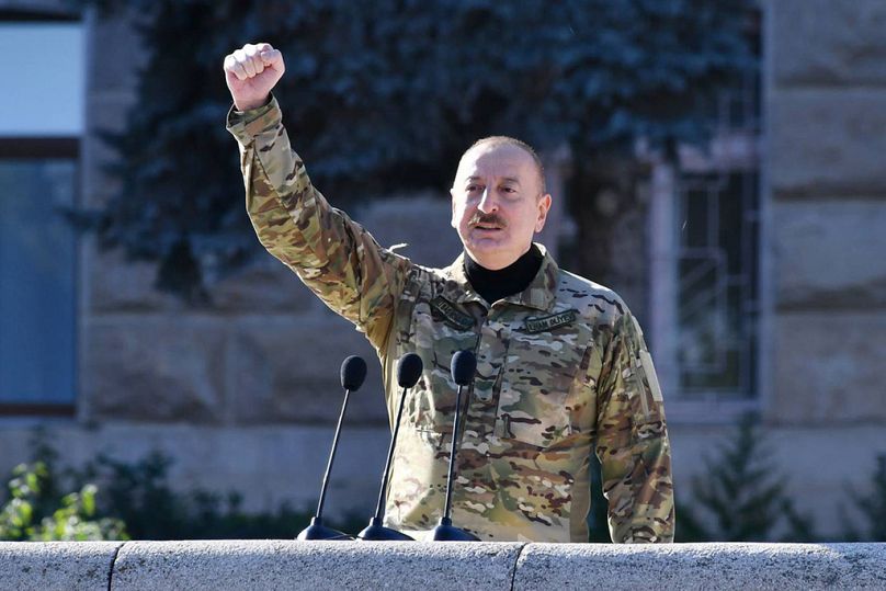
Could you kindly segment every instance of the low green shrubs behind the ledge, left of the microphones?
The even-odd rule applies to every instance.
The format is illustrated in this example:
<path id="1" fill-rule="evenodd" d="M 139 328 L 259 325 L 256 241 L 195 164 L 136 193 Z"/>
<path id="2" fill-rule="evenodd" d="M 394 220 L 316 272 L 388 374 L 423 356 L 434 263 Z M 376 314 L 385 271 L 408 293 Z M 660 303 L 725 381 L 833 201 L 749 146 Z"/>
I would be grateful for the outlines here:
<path id="1" fill-rule="evenodd" d="M 135 463 L 100 455 L 81 468 L 60 470 L 44 433 L 35 433 L 32 448 L 33 462 L 10 476 L 9 499 L 0 504 L 0 539 L 292 538 L 313 516 L 286 503 L 247 513 L 235 492 L 175 491 L 169 475 L 173 461 L 160 452 Z M 356 533 L 368 518 L 326 521 Z"/>

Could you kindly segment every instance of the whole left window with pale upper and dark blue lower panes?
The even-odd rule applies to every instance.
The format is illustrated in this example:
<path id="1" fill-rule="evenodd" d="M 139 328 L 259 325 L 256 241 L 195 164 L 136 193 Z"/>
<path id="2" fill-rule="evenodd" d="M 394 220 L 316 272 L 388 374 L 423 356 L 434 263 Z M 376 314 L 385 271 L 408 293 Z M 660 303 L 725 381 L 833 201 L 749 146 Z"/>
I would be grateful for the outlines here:
<path id="1" fill-rule="evenodd" d="M 0 413 L 73 410 L 83 38 L 76 22 L 0 22 Z"/>

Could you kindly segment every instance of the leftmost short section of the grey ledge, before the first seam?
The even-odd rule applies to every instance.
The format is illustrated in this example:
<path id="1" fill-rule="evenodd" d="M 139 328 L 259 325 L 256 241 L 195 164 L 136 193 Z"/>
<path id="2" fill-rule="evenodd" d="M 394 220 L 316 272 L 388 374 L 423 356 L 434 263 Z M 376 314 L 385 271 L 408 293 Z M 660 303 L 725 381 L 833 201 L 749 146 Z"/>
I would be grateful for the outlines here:
<path id="1" fill-rule="evenodd" d="M 122 542 L 0 542 L 0 589 L 107 589 Z"/>

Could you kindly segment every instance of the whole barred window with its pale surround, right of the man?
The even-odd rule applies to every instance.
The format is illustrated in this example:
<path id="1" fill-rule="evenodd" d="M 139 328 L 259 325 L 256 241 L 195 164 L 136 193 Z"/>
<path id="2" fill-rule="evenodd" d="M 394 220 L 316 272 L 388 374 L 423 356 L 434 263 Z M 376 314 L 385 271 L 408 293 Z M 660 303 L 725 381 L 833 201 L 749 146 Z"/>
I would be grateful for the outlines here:
<path id="1" fill-rule="evenodd" d="M 731 420 L 760 398 L 756 76 L 723 93 L 705 149 L 654 162 L 650 346 L 677 421 Z"/>

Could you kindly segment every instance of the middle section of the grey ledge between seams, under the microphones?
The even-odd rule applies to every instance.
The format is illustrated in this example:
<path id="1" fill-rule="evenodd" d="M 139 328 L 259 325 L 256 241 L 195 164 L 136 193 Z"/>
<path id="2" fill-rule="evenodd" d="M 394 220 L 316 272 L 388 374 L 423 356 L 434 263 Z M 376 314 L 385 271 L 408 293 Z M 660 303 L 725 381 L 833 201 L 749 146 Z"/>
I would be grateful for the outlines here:
<path id="1" fill-rule="evenodd" d="M 521 546 L 488 542 L 130 542 L 117 557 L 112 589 L 510 590 Z M 584 579 L 589 580 L 595 579 Z"/>

